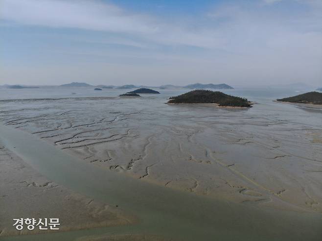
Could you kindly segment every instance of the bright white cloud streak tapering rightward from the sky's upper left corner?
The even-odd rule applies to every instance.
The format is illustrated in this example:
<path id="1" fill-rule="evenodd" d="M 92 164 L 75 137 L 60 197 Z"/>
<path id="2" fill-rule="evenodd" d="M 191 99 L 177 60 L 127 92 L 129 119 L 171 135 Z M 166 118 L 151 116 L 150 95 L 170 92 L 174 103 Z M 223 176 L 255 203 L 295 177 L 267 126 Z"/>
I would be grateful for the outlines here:
<path id="1" fill-rule="evenodd" d="M 89 0 L 2 0 L 1 18 L 26 25 L 149 33 L 147 16 Z"/>

